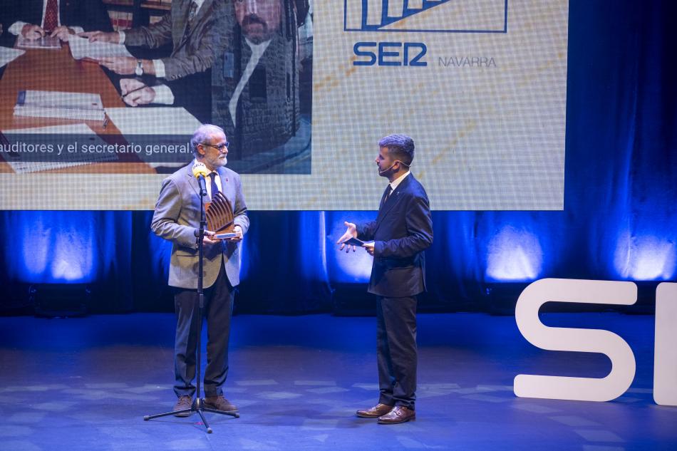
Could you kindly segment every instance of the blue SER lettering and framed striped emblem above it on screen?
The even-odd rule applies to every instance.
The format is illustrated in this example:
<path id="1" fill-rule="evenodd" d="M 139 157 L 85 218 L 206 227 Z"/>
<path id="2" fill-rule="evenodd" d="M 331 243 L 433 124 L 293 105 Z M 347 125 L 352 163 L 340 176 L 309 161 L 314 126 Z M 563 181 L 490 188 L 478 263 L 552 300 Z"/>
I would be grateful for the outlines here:
<path id="1" fill-rule="evenodd" d="M 507 0 L 344 0 L 343 30 L 415 33 L 506 33 Z M 467 16 L 458 11 L 473 11 Z M 487 26 L 487 16 L 491 28 Z M 456 20 L 455 20 L 456 19 Z M 476 25 L 476 26 L 475 26 Z M 353 66 L 428 66 L 423 42 L 360 41 Z"/>

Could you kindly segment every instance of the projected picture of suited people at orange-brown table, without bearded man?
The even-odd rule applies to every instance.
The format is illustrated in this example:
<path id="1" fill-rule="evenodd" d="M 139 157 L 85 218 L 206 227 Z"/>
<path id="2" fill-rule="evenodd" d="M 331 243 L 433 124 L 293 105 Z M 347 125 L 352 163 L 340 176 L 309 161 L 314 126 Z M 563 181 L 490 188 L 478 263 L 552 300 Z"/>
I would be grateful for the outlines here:
<path id="1" fill-rule="evenodd" d="M 1 171 L 173 172 L 191 160 L 232 2 L 3 5 Z"/>

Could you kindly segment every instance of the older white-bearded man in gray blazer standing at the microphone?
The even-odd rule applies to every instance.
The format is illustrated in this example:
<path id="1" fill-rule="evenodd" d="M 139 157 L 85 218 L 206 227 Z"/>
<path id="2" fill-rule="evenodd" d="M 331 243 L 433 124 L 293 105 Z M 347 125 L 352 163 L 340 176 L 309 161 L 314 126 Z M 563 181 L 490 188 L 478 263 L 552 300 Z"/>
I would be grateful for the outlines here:
<path id="1" fill-rule="evenodd" d="M 223 130 L 215 125 L 201 125 L 190 141 L 195 160 L 162 182 L 160 197 L 150 227 L 158 237 L 172 242 L 169 284 L 175 289 L 177 316 L 175 340 L 175 385 L 178 400 L 174 410 L 191 408 L 195 395 L 197 331 L 199 317 L 197 296 L 198 249 L 200 227 L 200 188 L 192 175 L 195 163 L 203 163 L 211 173 L 207 178 L 207 196 L 217 191 L 233 207 L 234 232 L 227 241 L 205 232 L 204 283 L 205 316 L 207 317 L 207 368 L 205 368 L 205 407 L 222 411 L 237 408 L 223 395 L 228 374 L 228 341 L 233 308 L 234 286 L 239 284 L 241 240 L 249 228 L 247 204 L 242 195 L 239 175 L 224 167 L 228 142 Z M 197 362 L 199 364 L 199 362 Z M 200 396 L 200 393 L 197 393 Z M 177 416 L 188 416 L 185 411 Z"/>

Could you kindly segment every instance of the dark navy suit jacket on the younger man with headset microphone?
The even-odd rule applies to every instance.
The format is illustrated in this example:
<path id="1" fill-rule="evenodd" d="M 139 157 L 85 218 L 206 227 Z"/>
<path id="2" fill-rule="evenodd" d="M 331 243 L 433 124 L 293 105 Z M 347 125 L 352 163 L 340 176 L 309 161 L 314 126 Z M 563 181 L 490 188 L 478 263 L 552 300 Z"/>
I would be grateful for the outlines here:
<path id="1" fill-rule="evenodd" d="M 409 174 L 378 210 L 360 224 L 358 238 L 374 240 L 369 293 L 389 298 L 425 291 L 425 254 L 433 244 L 433 219 L 423 185 Z"/>

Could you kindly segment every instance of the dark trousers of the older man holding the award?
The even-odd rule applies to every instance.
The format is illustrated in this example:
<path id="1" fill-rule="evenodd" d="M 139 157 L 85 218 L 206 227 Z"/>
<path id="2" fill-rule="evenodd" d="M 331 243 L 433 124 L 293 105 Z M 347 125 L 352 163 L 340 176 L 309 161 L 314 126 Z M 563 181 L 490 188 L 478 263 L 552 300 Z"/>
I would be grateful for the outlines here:
<path id="1" fill-rule="evenodd" d="M 233 310 L 234 289 L 221 264 L 214 285 L 204 290 L 207 318 L 207 367 L 205 368 L 205 396 L 223 394 L 228 375 L 228 341 Z M 195 351 L 200 301 L 197 290 L 176 289 L 176 339 L 174 344 L 174 393 L 177 396 L 195 395 Z M 200 396 L 200 393 L 197 393 Z"/>

